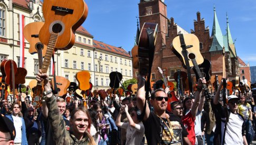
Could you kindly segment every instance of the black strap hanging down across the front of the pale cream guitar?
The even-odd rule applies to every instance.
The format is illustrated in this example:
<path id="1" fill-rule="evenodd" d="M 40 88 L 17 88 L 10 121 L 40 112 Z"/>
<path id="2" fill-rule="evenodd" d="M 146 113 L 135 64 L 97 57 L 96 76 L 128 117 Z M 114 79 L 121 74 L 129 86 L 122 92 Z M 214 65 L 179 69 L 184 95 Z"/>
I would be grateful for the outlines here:
<path id="1" fill-rule="evenodd" d="M 189 85 L 189 90 L 193 94 L 193 82 L 192 82 L 192 77 L 191 77 L 191 67 L 188 62 L 188 57 L 187 57 L 187 48 L 190 48 L 191 46 L 186 46 L 183 34 L 179 34 L 179 40 L 181 42 L 181 47 L 182 47 L 182 54 L 185 58 L 185 65 L 187 69 L 187 77 L 188 77 L 188 85 Z"/>

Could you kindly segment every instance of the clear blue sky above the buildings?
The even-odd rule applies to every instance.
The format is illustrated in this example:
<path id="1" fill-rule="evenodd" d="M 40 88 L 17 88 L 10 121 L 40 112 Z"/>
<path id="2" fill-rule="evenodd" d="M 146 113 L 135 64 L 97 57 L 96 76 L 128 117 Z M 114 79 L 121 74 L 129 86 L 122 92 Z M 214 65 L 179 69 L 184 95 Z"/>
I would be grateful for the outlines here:
<path id="1" fill-rule="evenodd" d="M 137 29 L 139 0 L 93 0 L 85 1 L 89 8 L 83 27 L 106 44 L 130 51 L 134 46 Z M 165 0 L 167 17 L 190 32 L 194 29 L 196 12 L 205 18 L 205 26 L 212 33 L 213 7 L 215 5 L 222 34 L 225 34 L 226 13 L 229 16 L 231 35 L 235 41 L 236 53 L 245 63 L 256 66 L 256 1 L 255 0 Z"/>

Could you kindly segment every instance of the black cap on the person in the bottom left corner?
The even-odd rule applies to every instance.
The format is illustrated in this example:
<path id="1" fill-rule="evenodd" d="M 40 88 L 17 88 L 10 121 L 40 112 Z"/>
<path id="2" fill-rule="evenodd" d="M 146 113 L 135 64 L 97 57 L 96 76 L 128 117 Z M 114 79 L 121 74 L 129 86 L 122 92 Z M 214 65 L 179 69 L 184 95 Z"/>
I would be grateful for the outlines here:
<path id="1" fill-rule="evenodd" d="M 16 136 L 16 131 L 13 122 L 4 115 L 0 115 L 0 124 L 4 128 L 4 130 L 10 132 L 11 140 L 14 140 Z"/>

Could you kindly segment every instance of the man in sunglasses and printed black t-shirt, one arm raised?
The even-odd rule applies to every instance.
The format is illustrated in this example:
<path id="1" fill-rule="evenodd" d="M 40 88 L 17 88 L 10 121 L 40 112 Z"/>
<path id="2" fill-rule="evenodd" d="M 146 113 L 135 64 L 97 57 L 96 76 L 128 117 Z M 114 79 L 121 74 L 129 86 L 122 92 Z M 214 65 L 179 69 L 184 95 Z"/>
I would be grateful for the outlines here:
<path id="1" fill-rule="evenodd" d="M 150 103 L 154 112 L 150 112 L 145 98 L 145 78 L 138 77 L 137 106 L 141 110 L 141 119 L 145 126 L 148 144 L 191 144 L 187 131 L 180 118 L 165 112 L 167 94 L 163 89 L 152 92 Z"/>

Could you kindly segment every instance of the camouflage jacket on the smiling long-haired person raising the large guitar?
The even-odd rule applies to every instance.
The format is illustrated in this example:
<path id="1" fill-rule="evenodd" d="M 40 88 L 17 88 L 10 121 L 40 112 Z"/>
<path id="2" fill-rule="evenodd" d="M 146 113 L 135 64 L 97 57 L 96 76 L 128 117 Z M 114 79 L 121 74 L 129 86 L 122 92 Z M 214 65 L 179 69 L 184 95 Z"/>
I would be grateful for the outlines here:
<path id="1" fill-rule="evenodd" d="M 84 136 L 82 140 L 78 140 L 75 136 L 65 129 L 65 121 L 60 115 L 54 95 L 51 98 L 45 98 L 46 105 L 49 109 L 48 119 L 53 130 L 54 144 L 88 144 L 89 138 Z"/>

